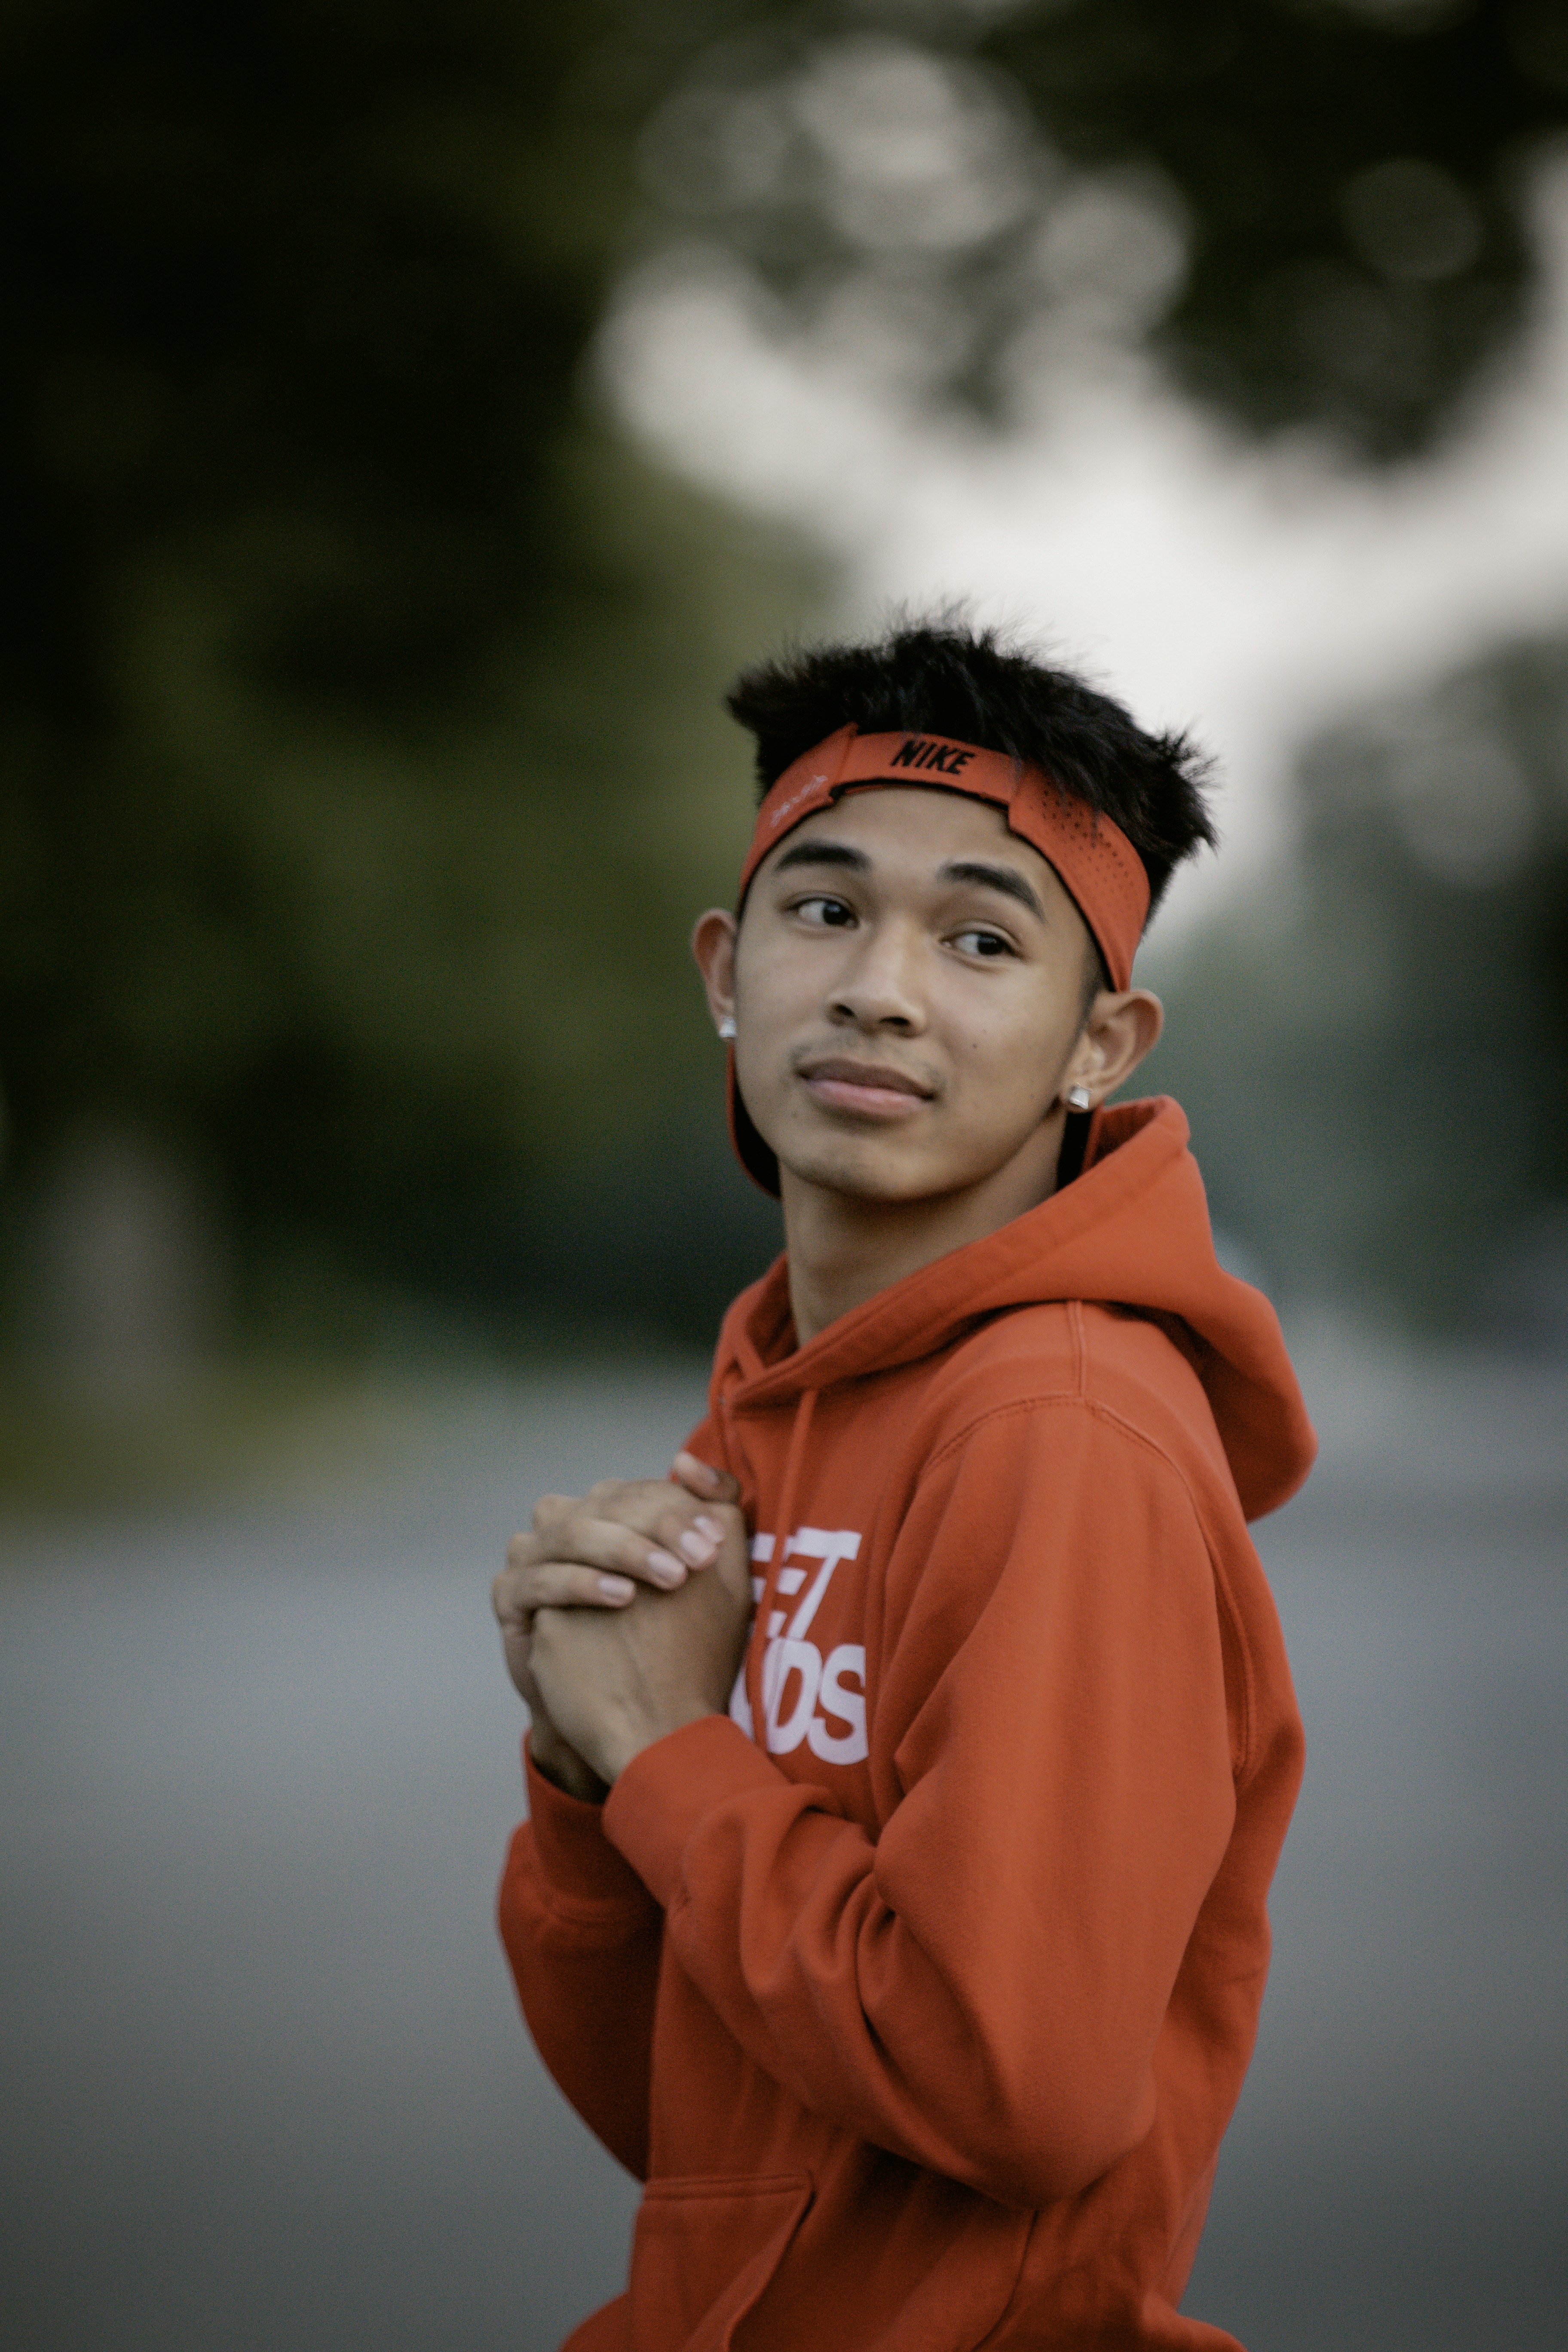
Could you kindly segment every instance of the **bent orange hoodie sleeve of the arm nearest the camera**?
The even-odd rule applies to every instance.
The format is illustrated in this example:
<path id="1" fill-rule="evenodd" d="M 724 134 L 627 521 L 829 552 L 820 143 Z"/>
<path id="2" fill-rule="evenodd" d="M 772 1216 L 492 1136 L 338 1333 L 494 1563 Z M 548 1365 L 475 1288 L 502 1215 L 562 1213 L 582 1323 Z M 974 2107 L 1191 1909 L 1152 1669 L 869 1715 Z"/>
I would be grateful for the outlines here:
<path id="1" fill-rule="evenodd" d="M 646 1748 L 604 1830 L 757 2065 L 827 2122 L 1037 2206 L 1147 2133 L 1229 1839 L 1208 1545 L 1131 1428 L 1013 1404 L 926 1465 L 886 1606 L 877 1842 L 724 1717 Z"/>

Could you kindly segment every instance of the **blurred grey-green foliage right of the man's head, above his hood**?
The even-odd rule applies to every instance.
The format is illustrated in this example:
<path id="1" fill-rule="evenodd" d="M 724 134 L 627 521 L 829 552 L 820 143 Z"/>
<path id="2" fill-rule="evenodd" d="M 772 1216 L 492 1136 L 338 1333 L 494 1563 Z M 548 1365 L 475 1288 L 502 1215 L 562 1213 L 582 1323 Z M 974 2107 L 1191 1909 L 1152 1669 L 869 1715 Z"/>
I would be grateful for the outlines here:
<path id="1" fill-rule="evenodd" d="M 1314 743 L 1300 863 L 1166 983 L 1152 1082 L 1286 1298 L 1568 1334 L 1568 640 Z"/>

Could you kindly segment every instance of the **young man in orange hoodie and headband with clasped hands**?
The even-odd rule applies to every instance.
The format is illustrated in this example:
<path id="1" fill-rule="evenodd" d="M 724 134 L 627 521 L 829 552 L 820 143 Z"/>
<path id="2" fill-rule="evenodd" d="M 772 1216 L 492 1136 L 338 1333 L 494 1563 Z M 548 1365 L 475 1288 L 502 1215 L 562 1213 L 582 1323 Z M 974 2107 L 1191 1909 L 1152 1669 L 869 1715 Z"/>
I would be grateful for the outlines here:
<path id="1" fill-rule="evenodd" d="M 496 1585 L 505 1947 L 646 2180 L 571 2347 L 1222 2347 L 1178 2303 L 1302 1759 L 1244 1522 L 1312 1432 L 1180 1110 L 1103 1108 L 1197 760 L 945 623 L 731 710 L 693 946 L 788 1254 L 672 1482 L 545 1498 Z"/>

